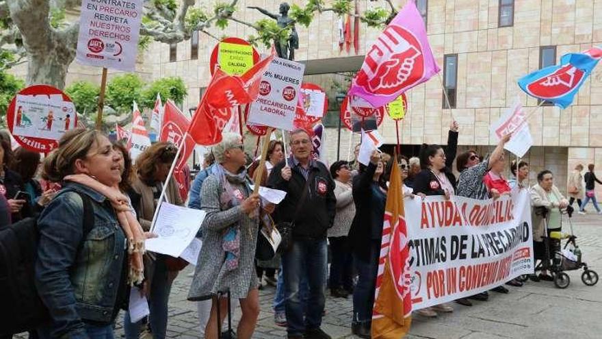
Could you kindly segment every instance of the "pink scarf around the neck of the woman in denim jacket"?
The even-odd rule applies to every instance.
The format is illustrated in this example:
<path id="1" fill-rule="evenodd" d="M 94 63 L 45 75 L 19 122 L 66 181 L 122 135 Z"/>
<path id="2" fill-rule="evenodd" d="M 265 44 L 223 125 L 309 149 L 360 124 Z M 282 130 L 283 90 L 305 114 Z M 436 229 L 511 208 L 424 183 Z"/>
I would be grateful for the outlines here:
<path id="1" fill-rule="evenodd" d="M 85 174 L 68 175 L 64 178 L 66 181 L 73 181 L 77 184 L 87 186 L 103 194 L 115 209 L 117 220 L 121 229 L 125 233 L 127 240 L 127 253 L 129 260 L 129 272 L 127 282 L 130 286 L 142 284 L 144 280 L 144 231 L 142 226 L 136 220 L 130 201 L 127 196 L 122 194 L 119 188 L 109 187 L 101 184 L 99 181 Z"/>

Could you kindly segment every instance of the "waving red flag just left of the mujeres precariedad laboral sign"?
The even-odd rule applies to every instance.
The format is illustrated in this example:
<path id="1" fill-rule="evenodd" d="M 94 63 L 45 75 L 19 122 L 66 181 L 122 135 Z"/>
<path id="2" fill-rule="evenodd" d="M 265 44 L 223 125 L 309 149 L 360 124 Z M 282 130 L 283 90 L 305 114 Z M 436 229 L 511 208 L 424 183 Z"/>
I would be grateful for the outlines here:
<path id="1" fill-rule="evenodd" d="M 274 54 L 272 49 L 272 54 L 241 76 L 215 71 L 188 129 L 196 143 L 215 145 L 222 141 L 222 130 L 231 116 L 230 108 L 257 99 L 261 77 L 274 59 Z"/>

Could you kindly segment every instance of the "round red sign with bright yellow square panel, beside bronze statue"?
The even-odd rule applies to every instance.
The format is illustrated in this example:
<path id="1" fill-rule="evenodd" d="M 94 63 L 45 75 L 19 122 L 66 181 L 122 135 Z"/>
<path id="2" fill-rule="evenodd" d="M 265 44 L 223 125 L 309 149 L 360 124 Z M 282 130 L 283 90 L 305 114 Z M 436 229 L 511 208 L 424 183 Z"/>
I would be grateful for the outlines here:
<path id="1" fill-rule="evenodd" d="M 228 75 L 241 75 L 259 62 L 259 53 L 251 44 L 241 38 L 225 38 L 213 47 L 209 58 L 209 71 L 215 73 L 215 66 L 220 65 Z"/>

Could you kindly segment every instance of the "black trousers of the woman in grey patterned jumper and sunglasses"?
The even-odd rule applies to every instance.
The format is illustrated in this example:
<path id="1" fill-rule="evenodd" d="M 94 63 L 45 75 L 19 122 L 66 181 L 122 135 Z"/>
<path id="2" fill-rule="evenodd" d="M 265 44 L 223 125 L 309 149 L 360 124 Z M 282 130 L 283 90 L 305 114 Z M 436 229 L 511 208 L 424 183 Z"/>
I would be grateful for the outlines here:
<path id="1" fill-rule="evenodd" d="M 353 257 L 346 236 L 328 238 L 330 242 L 330 290 L 335 288 L 353 289 Z"/>

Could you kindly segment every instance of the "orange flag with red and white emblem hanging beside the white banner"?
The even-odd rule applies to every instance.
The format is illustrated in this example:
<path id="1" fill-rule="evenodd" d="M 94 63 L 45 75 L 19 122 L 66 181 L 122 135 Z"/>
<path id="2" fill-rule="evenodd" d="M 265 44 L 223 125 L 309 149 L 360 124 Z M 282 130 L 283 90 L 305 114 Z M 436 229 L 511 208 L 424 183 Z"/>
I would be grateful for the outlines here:
<path id="1" fill-rule="evenodd" d="M 393 164 L 397 164 L 395 155 Z M 384 208 L 376 295 L 372 313 L 373 339 L 400 339 L 410 330 L 412 298 L 408 231 L 400 168 L 393 166 Z"/>

